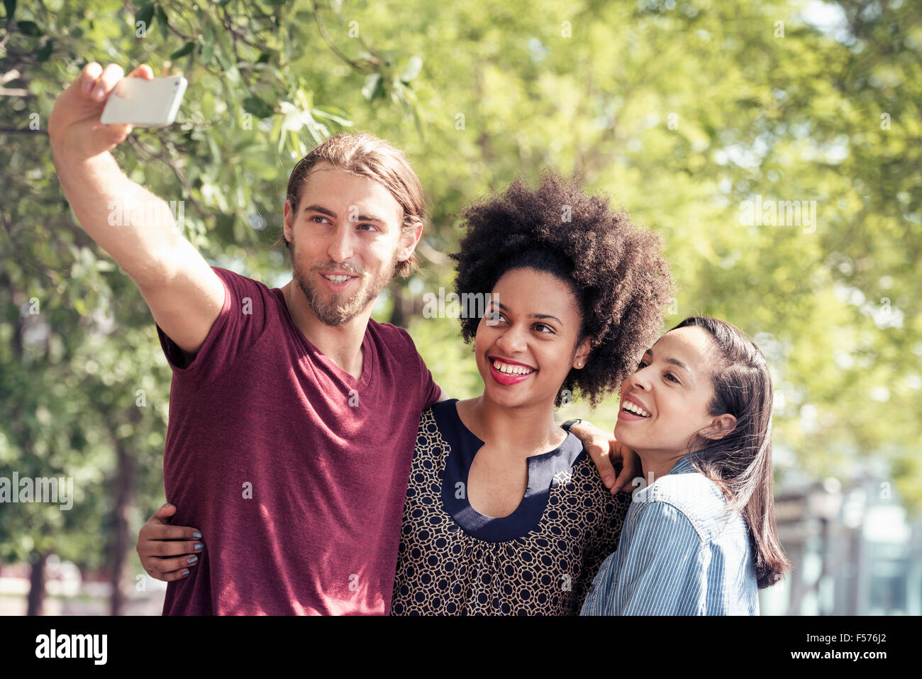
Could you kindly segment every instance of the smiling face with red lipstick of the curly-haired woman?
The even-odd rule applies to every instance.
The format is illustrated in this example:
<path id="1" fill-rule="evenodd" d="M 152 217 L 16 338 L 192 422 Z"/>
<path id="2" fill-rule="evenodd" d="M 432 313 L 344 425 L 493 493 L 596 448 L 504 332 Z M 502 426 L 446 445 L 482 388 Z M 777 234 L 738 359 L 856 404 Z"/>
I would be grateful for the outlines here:
<path id="1" fill-rule="evenodd" d="M 493 286 L 474 340 L 484 395 L 505 406 L 553 403 L 573 368 L 585 365 L 589 340 L 566 281 L 534 268 L 506 271 Z"/>

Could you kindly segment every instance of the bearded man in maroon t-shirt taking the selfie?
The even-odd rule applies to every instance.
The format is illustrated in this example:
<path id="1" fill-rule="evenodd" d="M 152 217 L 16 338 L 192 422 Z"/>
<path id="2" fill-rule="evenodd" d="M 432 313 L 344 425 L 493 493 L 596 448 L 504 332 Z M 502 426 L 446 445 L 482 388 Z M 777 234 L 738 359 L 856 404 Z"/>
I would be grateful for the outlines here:
<path id="1" fill-rule="evenodd" d="M 173 371 L 164 485 L 208 548 L 171 569 L 164 613 L 387 613 L 420 411 L 445 398 L 408 334 L 371 319 L 412 267 L 419 179 L 375 137 L 314 149 L 284 208 L 293 280 L 269 290 L 209 267 L 165 206 L 141 210 L 159 222 L 109 223 L 113 201 L 162 204 L 109 153 L 131 126 L 99 122 L 122 75 L 87 65 L 49 137 L 77 219 L 135 280 Z M 604 435 L 583 436 L 612 475 Z M 162 537 L 193 538 L 163 542 L 164 563 L 195 550 Z"/>

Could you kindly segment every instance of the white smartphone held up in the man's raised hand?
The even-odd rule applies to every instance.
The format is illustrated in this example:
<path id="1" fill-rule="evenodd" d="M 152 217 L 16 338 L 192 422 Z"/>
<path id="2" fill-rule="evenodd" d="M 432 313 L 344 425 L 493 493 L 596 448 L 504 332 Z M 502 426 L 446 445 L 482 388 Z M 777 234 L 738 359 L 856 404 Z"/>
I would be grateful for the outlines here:
<path id="1" fill-rule="evenodd" d="M 102 109 L 103 125 L 172 125 L 183 101 L 186 79 L 182 76 L 123 77 L 109 95 Z"/>

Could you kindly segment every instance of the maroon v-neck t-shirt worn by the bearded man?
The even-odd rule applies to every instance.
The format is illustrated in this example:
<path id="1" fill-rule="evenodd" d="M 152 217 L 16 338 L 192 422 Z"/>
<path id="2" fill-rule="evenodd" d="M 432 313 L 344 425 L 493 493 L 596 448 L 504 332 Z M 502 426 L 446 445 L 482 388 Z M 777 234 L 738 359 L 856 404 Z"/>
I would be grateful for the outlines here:
<path id="1" fill-rule="evenodd" d="M 369 321 L 357 381 L 278 288 L 214 270 L 224 307 L 195 360 L 158 328 L 171 522 L 206 544 L 163 613 L 389 613 L 420 412 L 439 388 L 404 330 Z"/>

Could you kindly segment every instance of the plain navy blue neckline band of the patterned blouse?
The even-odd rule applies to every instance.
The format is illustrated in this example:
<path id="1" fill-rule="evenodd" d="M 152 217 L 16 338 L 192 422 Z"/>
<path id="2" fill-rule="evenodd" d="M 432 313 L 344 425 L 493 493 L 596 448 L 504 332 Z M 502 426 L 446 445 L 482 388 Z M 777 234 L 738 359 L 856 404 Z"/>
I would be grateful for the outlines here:
<path id="1" fill-rule="evenodd" d="M 583 454 L 583 443 L 575 435 L 569 434 L 559 447 L 528 458 L 528 484 L 519 506 L 507 517 L 487 517 L 470 506 L 467 500 L 470 465 L 484 442 L 461 422 L 457 400 L 436 403 L 431 409 L 439 432 L 451 447 L 445 460 L 442 481 L 445 511 L 455 519 L 458 526 L 479 540 L 507 542 L 522 537 L 538 527 L 548 506 L 554 476 L 573 467 Z"/>

